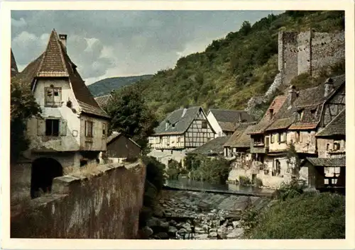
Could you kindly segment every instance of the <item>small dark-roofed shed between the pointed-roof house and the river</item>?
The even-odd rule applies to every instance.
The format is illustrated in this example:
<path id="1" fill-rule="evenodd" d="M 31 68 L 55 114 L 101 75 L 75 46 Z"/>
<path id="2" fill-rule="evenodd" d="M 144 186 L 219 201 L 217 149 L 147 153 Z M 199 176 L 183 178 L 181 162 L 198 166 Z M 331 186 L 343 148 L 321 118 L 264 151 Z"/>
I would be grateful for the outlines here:
<path id="1" fill-rule="evenodd" d="M 107 139 L 107 152 L 102 158 L 109 162 L 122 163 L 133 161 L 141 156 L 141 147 L 120 132 L 114 132 Z"/>

